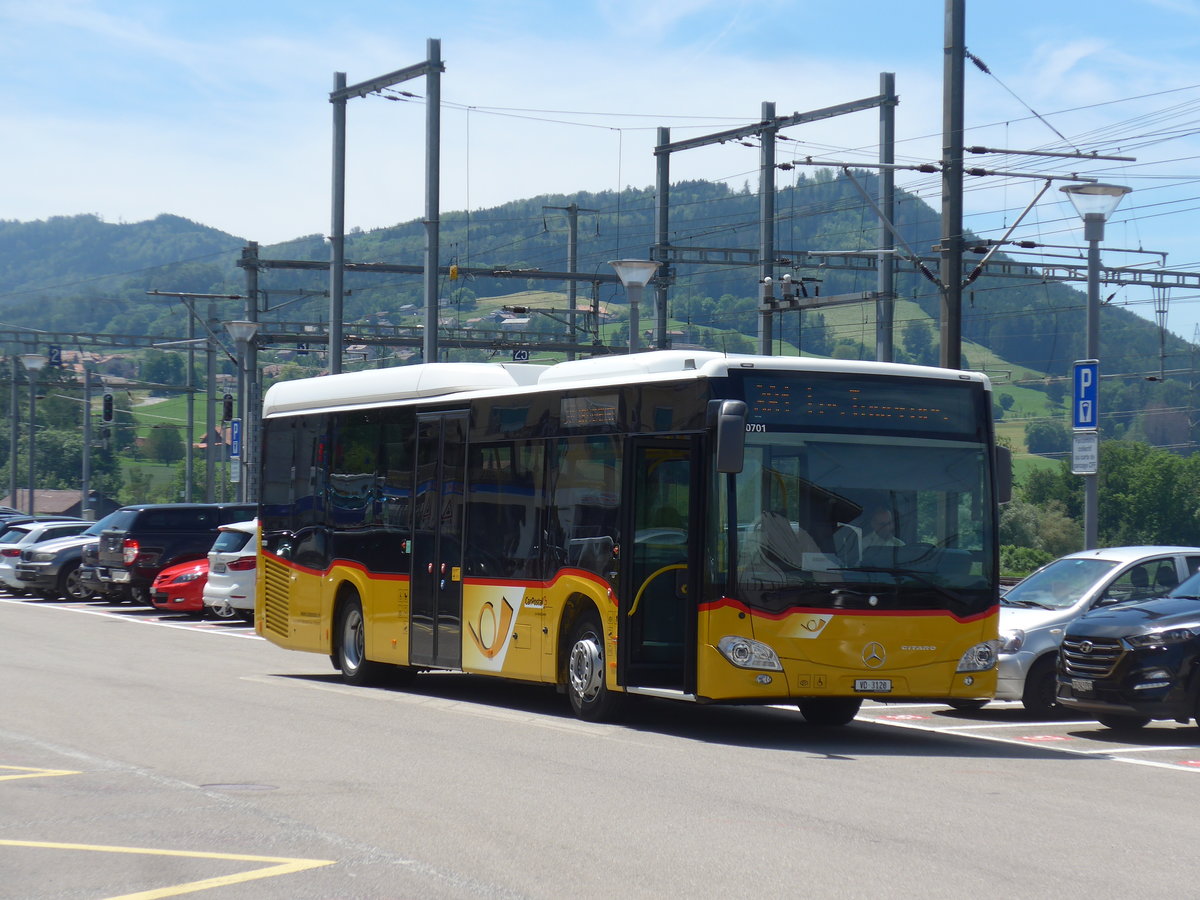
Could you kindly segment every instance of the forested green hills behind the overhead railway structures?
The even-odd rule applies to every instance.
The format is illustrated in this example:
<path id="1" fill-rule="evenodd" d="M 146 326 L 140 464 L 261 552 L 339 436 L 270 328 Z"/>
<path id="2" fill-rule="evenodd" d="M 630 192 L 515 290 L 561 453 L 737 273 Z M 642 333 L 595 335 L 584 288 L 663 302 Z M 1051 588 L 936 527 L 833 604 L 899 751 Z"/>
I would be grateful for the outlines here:
<path id="1" fill-rule="evenodd" d="M 874 178 L 858 174 L 868 191 Z M 462 266 L 566 269 L 566 217 L 560 209 L 581 208 L 578 269 L 611 272 L 607 260 L 648 254 L 654 239 L 654 194 L 628 188 L 620 193 L 544 196 L 487 210 L 445 212 L 442 217 L 442 263 Z M 758 198 L 749 188 L 690 181 L 671 188 L 671 234 L 677 246 L 745 247 L 757 244 Z M 878 227 L 857 188 L 842 175 L 817 172 L 800 175 L 776 198 L 776 247 L 788 251 L 869 250 L 878 242 Z M 937 242 L 938 216 L 924 202 L 899 192 L 896 222 L 906 241 L 930 254 Z M 251 236 L 252 238 L 252 236 Z M 420 264 L 425 230 L 420 222 L 355 232 L 347 240 L 347 259 Z M 44 222 L 0 222 L 0 308 L 11 325 L 72 332 L 180 335 L 182 319 L 176 304 L 148 298 L 148 290 L 240 293 L 244 275 L 236 259 L 246 241 L 186 218 L 163 215 L 149 222 L 114 224 L 96 216 L 56 217 Z M 264 246 L 264 258 L 328 259 L 320 235 L 298 238 L 286 245 Z M 874 274 L 803 270 L 821 280 L 823 294 L 874 290 Z M 300 289 L 322 292 L 328 278 L 320 272 L 265 270 L 263 318 L 319 324 L 328 318 L 328 300 L 305 299 Z M 413 306 L 422 304 L 421 277 L 349 272 L 346 301 L 349 323 L 404 322 Z M 937 359 L 940 298 L 936 288 L 917 275 L 898 278 L 898 295 L 912 301 L 913 314 L 896 319 L 898 358 L 918 362 Z M 455 326 L 478 317 L 480 301 L 517 292 L 565 290 L 565 287 L 520 277 L 473 278 L 443 282 L 443 314 Z M 581 305 L 589 302 L 581 288 Z M 560 295 L 540 294 L 540 305 L 563 305 Z M 677 340 L 727 349 L 749 349 L 752 342 L 737 335 L 756 331 L 757 274 L 751 268 L 679 266 L 671 288 L 672 328 Z M 606 310 L 622 316 L 623 293 L 601 290 Z M 486 305 L 485 305 L 486 306 Z M 494 304 L 492 305 L 494 306 Z M 845 313 L 806 312 L 778 317 L 780 352 L 871 356 L 874 338 L 862 311 L 858 323 Z M 932 328 L 929 326 L 930 319 Z M 416 319 L 412 319 L 415 322 Z M 614 331 L 606 340 L 616 341 Z M 1084 296 L 1068 286 L 1026 280 L 982 277 L 968 290 L 964 308 L 964 338 L 986 348 L 1009 367 L 1032 370 L 1051 379 L 1062 378 L 1070 362 L 1084 355 Z M 1190 347 L 1169 337 L 1165 367 L 1190 365 Z M 1150 322 L 1117 307 L 1102 311 L 1102 356 L 1106 373 L 1130 373 L 1105 382 L 1105 407 L 1130 410 L 1114 415 L 1106 427 L 1123 434 L 1136 414 L 1147 408 L 1186 408 L 1189 389 L 1181 379 L 1151 384 L 1141 376 L 1158 370 L 1159 335 Z M 978 356 L 979 353 L 977 352 Z M 967 365 L 971 365 L 971 350 Z M 982 364 L 980 364 L 982 365 Z M 1036 379 L 1034 379 L 1036 380 Z M 1026 378 L 1026 383 L 1030 379 Z M 1057 382 L 1032 384 L 1051 400 L 1061 398 Z M 1178 416 L 1176 416 L 1178 419 Z M 1183 422 L 1187 421 L 1186 414 Z M 1184 431 L 1187 425 L 1182 426 Z M 1180 421 L 1170 428 L 1178 431 Z M 1145 431 L 1145 428 L 1142 428 Z M 1170 437 L 1170 436 L 1168 436 Z M 1186 434 L 1184 434 L 1186 438 Z M 1171 443 L 1164 438 L 1164 443 Z"/>

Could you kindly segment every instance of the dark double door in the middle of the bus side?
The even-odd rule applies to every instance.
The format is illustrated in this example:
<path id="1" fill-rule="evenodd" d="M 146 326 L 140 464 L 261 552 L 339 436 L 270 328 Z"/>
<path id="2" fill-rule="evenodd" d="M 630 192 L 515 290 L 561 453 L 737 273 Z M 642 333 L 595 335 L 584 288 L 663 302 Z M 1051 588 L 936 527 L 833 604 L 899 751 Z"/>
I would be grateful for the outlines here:
<path id="1" fill-rule="evenodd" d="M 409 664 L 462 665 L 462 529 L 467 413 L 416 419 Z"/>

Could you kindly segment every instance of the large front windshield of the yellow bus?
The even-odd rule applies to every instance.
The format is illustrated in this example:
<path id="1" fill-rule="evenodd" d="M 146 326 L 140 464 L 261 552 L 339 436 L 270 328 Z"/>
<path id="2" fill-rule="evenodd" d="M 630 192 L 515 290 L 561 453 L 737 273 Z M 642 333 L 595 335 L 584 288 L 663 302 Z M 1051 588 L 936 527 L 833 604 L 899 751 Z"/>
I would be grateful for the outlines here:
<path id="1" fill-rule="evenodd" d="M 716 504 L 737 535 L 734 595 L 768 612 L 984 612 L 996 602 L 988 472 L 976 442 L 750 433 Z"/>

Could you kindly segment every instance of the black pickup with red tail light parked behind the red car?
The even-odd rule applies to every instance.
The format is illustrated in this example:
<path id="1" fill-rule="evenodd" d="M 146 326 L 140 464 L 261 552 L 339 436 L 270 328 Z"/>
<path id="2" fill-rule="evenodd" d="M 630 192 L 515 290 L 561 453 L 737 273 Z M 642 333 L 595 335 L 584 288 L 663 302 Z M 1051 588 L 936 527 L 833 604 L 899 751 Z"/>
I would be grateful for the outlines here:
<path id="1" fill-rule="evenodd" d="M 169 565 L 204 559 L 217 527 L 253 518 L 252 503 L 146 503 L 125 506 L 100 534 L 96 577 L 109 599 L 150 602 L 150 584 Z M 114 595 L 115 594 L 115 595 Z"/>

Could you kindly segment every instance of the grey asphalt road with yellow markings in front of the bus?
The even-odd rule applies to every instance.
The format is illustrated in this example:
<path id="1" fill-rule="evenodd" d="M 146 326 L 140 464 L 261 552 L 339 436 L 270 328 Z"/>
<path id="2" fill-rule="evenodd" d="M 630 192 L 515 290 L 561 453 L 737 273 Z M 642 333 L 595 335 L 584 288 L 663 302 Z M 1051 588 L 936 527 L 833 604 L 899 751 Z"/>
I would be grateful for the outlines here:
<path id="1" fill-rule="evenodd" d="M 342 685 L 244 626 L 0 600 L 0 896 L 1170 896 L 1200 733 Z M 1193 758 L 1194 757 L 1194 758 Z"/>

